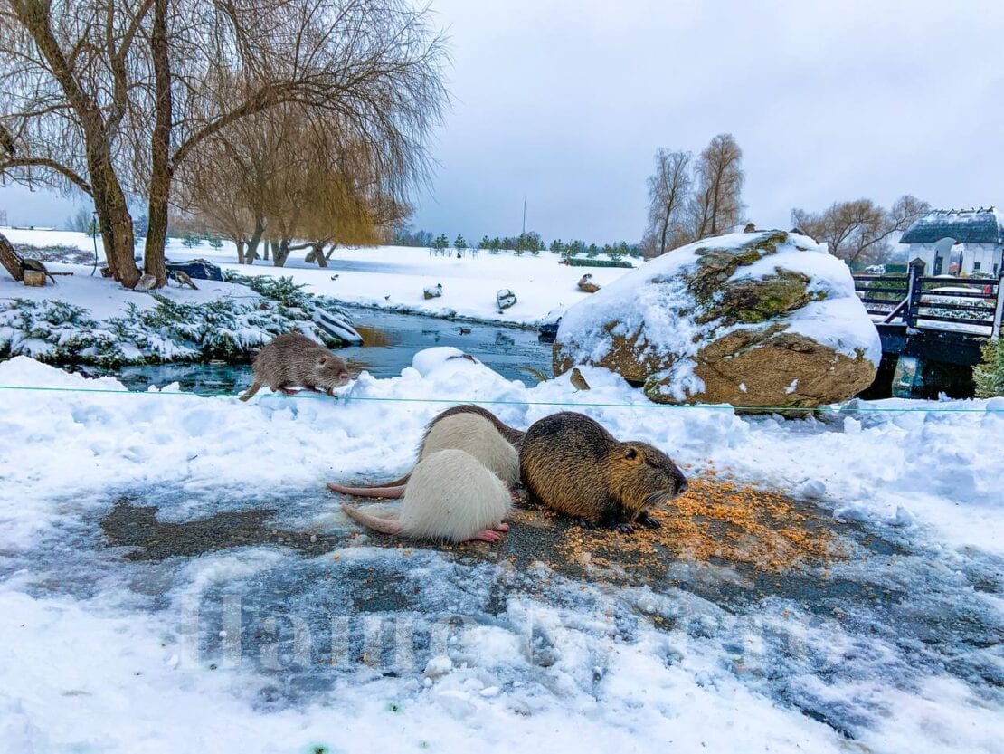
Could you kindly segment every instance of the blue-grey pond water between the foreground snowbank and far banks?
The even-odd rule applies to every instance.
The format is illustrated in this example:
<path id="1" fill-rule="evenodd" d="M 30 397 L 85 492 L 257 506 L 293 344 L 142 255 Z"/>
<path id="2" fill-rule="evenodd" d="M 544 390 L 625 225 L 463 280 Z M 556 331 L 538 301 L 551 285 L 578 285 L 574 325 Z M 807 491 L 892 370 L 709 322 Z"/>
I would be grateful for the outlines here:
<path id="1" fill-rule="evenodd" d="M 417 315 L 347 308 L 363 345 L 337 350 L 353 372 L 373 377 L 397 377 L 412 365 L 416 352 L 436 346 L 454 346 L 471 354 L 508 379 L 533 382 L 522 367 L 551 374 L 551 347 L 537 340 L 534 330 L 437 320 Z M 462 332 L 463 331 L 463 332 Z M 468 332 L 469 331 L 469 332 Z M 127 366 L 110 372 L 82 367 L 85 374 L 111 374 L 131 390 L 146 390 L 178 382 L 182 390 L 236 393 L 251 384 L 250 364 L 158 364 Z"/>

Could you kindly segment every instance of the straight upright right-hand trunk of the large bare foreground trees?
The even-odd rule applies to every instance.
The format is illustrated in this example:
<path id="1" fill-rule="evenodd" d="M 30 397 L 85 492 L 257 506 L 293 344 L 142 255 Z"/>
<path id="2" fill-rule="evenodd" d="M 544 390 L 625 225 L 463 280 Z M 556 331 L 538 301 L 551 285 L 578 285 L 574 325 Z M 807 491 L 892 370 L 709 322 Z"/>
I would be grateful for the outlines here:
<path id="1" fill-rule="evenodd" d="M 154 2 L 154 28 L 150 47 L 154 58 L 157 86 L 156 120 L 151 139 L 150 225 L 143 271 L 154 275 L 154 288 L 168 285 L 164 265 L 164 244 L 168 236 L 168 198 L 171 193 L 171 60 L 168 57 L 168 0 Z"/>

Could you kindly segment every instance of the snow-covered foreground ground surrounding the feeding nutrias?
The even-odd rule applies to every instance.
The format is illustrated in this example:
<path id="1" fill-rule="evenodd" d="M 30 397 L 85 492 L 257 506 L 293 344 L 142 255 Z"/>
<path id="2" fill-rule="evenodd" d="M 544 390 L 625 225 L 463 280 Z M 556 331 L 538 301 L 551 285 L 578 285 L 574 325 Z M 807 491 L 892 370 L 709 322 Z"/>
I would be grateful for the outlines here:
<path id="1" fill-rule="evenodd" d="M 740 418 L 451 355 L 250 404 L 0 364 L 0 751 L 1002 750 L 1004 399 Z M 845 557 L 615 583 L 543 544 L 351 538 L 323 483 L 402 473 L 464 399 L 520 427 L 591 404 L 695 477 L 815 501 Z"/>

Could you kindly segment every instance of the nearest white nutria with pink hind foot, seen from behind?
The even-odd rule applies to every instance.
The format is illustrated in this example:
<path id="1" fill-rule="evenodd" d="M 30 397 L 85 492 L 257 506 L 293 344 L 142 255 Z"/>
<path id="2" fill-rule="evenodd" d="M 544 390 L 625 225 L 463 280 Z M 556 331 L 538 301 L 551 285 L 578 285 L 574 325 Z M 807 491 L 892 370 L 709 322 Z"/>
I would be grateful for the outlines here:
<path id="1" fill-rule="evenodd" d="M 509 531 L 509 490 L 470 453 L 430 453 L 412 470 L 397 521 L 357 508 L 341 510 L 368 529 L 410 539 L 498 542 Z"/>

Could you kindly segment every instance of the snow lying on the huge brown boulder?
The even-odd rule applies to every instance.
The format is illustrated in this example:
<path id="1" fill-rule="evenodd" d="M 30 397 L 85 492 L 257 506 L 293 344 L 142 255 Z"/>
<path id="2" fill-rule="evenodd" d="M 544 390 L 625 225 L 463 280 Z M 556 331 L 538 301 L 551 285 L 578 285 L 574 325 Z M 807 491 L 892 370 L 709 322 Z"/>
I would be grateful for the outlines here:
<path id="1" fill-rule="evenodd" d="M 568 344 L 567 355 L 574 363 L 596 362 L 610 347 L 609 334 L 632 337 L 662 353 L 677 354 L 671 379 L 665 389 L 683 400 L 700 392 L 704 385 L 694 373 L 694 356 L 713 338 L 731 330 L 717 323 L 698 323 L 697 309 L 683 274 L 698 262 L 698 250 L 708 246 L 730 248 L 756 240 L 764 233 L 732 233 L 682 246 L 605 286 L 587 301 L 572 307 L 561 320 L 558 342 Z M 809 295 L 825 294 L 822 301 L 779 319 L 787 331 L 799 333 L 832 348 L 848 358 L 864 358 L 877 366 L 882 360 L 878 332 L 854 293 L 847 266 L 826 252 L 825 245 L 807 236 L 788 234 L 777 252 L 766 254 L 752 264 L 740 266 L 730 279 L 760 277 L 776 268 L 801 272 L 810 278 Z M 607 330 L 610 323 L 617 323 Z"/>

